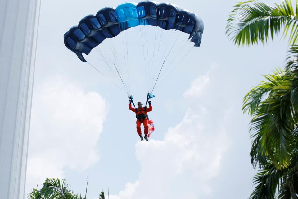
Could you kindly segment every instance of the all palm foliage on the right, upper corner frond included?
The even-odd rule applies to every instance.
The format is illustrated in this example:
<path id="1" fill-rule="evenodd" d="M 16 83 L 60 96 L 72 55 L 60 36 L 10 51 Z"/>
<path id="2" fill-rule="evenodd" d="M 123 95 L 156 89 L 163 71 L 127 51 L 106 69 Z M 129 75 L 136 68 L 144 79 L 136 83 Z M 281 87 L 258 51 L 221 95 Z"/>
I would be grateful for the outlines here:
<path id="1" fill-rule="evenodd" d="M 238 46 L 264 44 L 282 29 L 291 45 L 285 68 L 265 75 L 243 100 L 243 112 L 253 117 L 251 163 L 259 168 L 250 198 L 298 198 L 298 10 L 289 0 L 275 5 L 239 2 L 226 26 Z"/>

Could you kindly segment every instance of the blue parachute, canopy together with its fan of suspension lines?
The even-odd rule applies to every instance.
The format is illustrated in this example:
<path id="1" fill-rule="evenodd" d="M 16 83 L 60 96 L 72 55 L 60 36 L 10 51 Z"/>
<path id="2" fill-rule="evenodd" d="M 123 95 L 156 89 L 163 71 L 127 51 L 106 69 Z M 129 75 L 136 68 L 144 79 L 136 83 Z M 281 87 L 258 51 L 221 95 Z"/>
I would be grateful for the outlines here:
<path id="1" fill-rule="evenodd" d="M 154 30 L 148 34 L 147 30 L 149 29 L 146 28 L 147 26 L 156 27 L 155 34 Z M 141 41 L 132 38 L 132 42 L 128 42 L 129 35 L 126 34 L 126 31 L 133 27 L 139 27 L 140 35 L 142 35 Z M 100 55 L 98 60 L 105 62 L 111 73 L 116 77 L 115 81 L 110 81 L 130 96 L 128 71 L 129 66 L 132 64 L 128 62 L 132 59 L 129 58 L 131 55 L 128 53 L 130 52 L 128 50 L 129 45 L 140 43 L 140 46 L 142 46 L 144 55 L 142 65 L 144 65 L 146 71 L 148 93 L 152 93 L 156 83 L 160 80 L 160 76 L 166 78 L 171 72 L 168 70 L 169 67 L 174 70 L 185 58 L 186 55 L 183 55 L 183 53 L 190 51 L 185 50 L 186 41 L 192 42 L 193 47 L 200 46 L 203 30 L 204 23 L 199 16 L 188 10 L 181 9 L 175 4 L 155 1 L 129 2 L 120 4 L 116 8 L 105 7 L 99 10 L 96 15 L 85 16 L 77 26 L 73 26 L 64 34 L 64 44 L 82 62 L 87 62 L 86 56 L 84 57 L 82 53 L 89 55 L 93 49 L 96 49 L 96 52 Z M 167 31 L 170 31 L 170 34 L 167 35 Z M 182 33 L 188 36 L 180 43 L 181 45 L 176 45 L 178 37 Z M 177 35 L 175 36 L 175 34 Z M 120 37 L 122 46 L 120 43 L 115 47 L 115 37 L 118 38 L 118 35 L 122 35 L 122 39 Z M 163 39 L 163 35 L 167 35 L 167 38 Z M 152 37 L 151 40 L 148 39 L 150 36 Z M 105 40 L 109 42 L 108 47 L 100 49 Z M 162 42 L 167 45 L 165 50 L 161 47 Z M 148 45 L 153 46 L 153 43 L 155 49 L 148 50 Z M 120 53 L 117 52 L 120 47 L 123 47 L 123 50 L 120 50 L 120 53 L 123 54 L 123 61 L 120 61 Z M 109 50 L 111 50 L 111 55 L 107 54 Z M 176 55 L 173 53 L 176 53 Z M 152 56 L 149 57 L 150 55 Z M 170 60 L 170 57 L 172 60 Z M 95 67 L 93 64 L 89 64 L 106 76 L 106 72 L 102 72 L 102 66 Z"/>

